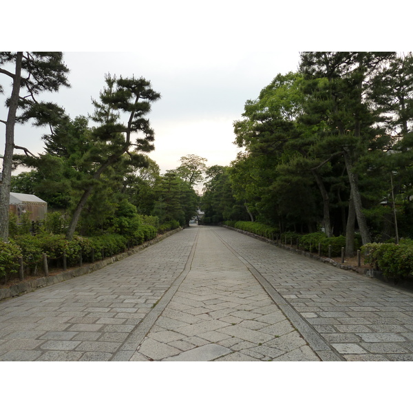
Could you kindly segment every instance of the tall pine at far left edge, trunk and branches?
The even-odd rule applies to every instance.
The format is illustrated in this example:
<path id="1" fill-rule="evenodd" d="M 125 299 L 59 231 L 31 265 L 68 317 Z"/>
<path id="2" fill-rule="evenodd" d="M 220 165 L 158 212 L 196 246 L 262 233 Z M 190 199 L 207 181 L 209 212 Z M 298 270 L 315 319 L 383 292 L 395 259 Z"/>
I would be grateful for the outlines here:
<path id="1" fill-rule="evenodd" d="M 8 240 L 8 211 L 10 182 L 15 145 L 14 127 L 17 122 L 34 119 L 34 125 L 54 125 L 63 109 L 52 103 L 38 101 L 42 92 L 57 92 L 61 86 L 69 86 L 66 78 L 69 70 L 63 63 L 61 52 L 0 52 L 0 74 L 12 80 L 10 98 L 6 100 L 8 116 L 0 120 L 6 125 L 6 147 L 3 156 L 3 172 L 0 186 L 0 239 Z M 12 69 L 11 69 L 12 67 Z M 10 68 L 10 70 L 9 70 Z M 0 93 L 3 93 L 0 87 Z"/>

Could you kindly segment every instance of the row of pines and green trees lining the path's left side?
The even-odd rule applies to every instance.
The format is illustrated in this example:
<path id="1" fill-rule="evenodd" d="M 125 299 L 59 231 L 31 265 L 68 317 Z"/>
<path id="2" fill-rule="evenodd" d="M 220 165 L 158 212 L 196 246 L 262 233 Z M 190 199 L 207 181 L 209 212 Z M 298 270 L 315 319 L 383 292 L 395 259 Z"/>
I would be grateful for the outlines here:
<path id="1" fill-rule="evenodd" d="M 193 163 L 202 169 L 206 160 L 182 157 L 178 169 L 160 174 L 147 155 L 154 149 L 147 115 L 160 94 L 145 78 L 107 74 L 99 98 L 92 100 L 94 114 L 71 119 L 61 107 L 39 100 L 42 92 L 69 87 L 68 72 L 60 52 L 0 52 L 0 74 L 12 81 L 8 117 L 0 120 L 6 125 L 0 239 L 9 236 L 10 191 L 33 193 L 70 217 L 67 240 L 75 232 L 107 231 L 116 214 L 131 205 L 141 215 L 156 215 L 160 224 L 187 224 L 198 209 L 194 186 L 200 176 Z M 42 136 L 44 151 L 36 156 L 14 142 L 15 125 L 29 120 L 49 129 Z M 30 171 L 12 176 L 19 165 Z"/>

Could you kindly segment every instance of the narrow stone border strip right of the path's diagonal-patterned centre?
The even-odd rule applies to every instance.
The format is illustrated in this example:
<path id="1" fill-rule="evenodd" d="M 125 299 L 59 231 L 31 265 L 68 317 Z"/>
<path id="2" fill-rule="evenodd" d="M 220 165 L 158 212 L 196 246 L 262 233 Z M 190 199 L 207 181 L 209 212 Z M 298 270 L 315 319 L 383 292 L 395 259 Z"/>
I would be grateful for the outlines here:
<path id="1" fill-rule="evenodd" d="M 318 355 L 318 357 L 321 359 L 321 361 L 346 361 L 343 357 L 341 357 L 340 354 L 338 354 L 324 339 L 319 335 L 319 333 L 314 330 L 310 324 L 301 317 L 299 313 L 291 306 L 288 301 L 286 301 L 279 293 L 277 290 L 267 281 L 267 279 L 260 273 L 260 271 L 257 270 L 251 264 L 248 262 L 248 260 L 245 260 L 244 257 L 242 257 L 237 251 L 235 251 L 229 244 L 227 244 L 224 240 L 222 240 L 222 237 L 218 235 L 215 231 L 213 231 L 215 235 L 222 241 L 222 243 L 229 248 L 229 250 L 240 260 L 246 268 L 248 268 L 248 271 L 257 279 L 257 282 L 259 282 L 266 291 L 266 293 L 273 299 L 274 303 L 279 307 L 280 310 L 284 313 L 284 315 L 290 320 L 291 324 L 301 334 L 301 336 L 307 341 L 308 345 L 313 349 L 313 351 Z"/>

